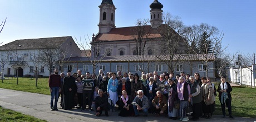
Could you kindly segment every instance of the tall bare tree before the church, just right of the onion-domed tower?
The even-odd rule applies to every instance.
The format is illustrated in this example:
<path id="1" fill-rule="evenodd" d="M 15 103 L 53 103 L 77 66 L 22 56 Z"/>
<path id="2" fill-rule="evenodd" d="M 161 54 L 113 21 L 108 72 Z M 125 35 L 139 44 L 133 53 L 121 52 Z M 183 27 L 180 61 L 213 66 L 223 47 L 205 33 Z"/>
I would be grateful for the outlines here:
<path id="1" fill-rule="evenodd" d="M 164 24 L 157 30 L 163 36 L 161 52 L 164 55 L 156 57 L 169 67 L 170 72 L 173 72 L 175 66 L 181 61 L 181 54 L 185 54 L 187 49 L 181 36 L 184 24 L 179 17 L 173 17 L 170 13 L 165 13 L 163 20 Z"/>

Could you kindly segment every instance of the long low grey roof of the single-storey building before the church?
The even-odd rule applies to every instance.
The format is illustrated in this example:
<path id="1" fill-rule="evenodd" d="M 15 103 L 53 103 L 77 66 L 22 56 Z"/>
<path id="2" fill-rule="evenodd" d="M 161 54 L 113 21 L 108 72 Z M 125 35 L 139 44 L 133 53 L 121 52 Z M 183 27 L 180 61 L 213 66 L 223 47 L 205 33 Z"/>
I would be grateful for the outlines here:
<path id="1" fill-rule="evenodd" d="M 100 57 L 95 57 L 97 59 L 101 59 Z M 93 57 L 91 57 L 93 60 Z M 128 62 L 128 61 L 167 61 L 170 60 L 169 55 L 123 55 L 123 56 L 105 56 L 101 61 L 102 62 Z M 174 56 L 174 61 L 182 60 L 182 61 L 203 61 L 205 56 L 203 54 L 176 54 Z M 215 56 L 213 54 L 207 55 L 208 60 L 215 60 Z M 70 57 L 68 59 L 70 62 L 90 62 L 88 57 Z"/>

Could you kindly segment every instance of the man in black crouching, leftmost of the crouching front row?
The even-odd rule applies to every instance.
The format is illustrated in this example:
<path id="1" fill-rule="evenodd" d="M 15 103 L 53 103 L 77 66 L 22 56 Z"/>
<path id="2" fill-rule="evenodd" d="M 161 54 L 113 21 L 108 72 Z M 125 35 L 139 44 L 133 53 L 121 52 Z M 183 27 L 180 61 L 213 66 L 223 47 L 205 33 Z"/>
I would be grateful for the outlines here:
<path id="1" fill-rule="evenodd" d="M 109 113 L 107 112 L 107 106 L 108 103 L 108 97 L 106 94 L 103 94 L 102 89 L 98 90 L 99 96 L 95 98 L 95 109 L 96 109 L 96 116 L 101 116 L 102 111 L 105 111 L 105 115 L 109 116 Z"/>

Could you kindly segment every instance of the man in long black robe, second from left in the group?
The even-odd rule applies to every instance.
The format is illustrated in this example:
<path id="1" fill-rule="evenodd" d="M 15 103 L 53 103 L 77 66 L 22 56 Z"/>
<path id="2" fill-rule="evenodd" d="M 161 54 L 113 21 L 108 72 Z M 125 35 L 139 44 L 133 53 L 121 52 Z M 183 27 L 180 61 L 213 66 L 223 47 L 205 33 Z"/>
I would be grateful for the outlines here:
<path id="1" fill-rule="evenodd" d="M 75 78 L 71 76 L 71 71 L 67 72 L 67 76 L 63 81 L 63 104 L 62 108 L 65 110 L 72 109 L 74 107 L 74 96 L 76 91 Z"/>

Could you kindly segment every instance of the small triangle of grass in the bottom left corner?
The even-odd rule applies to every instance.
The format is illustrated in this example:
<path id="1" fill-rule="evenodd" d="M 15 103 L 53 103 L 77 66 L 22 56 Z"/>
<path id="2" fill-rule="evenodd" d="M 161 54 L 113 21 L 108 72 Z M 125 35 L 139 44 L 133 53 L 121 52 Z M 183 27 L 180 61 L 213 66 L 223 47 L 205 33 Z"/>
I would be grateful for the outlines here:
<path id="1" fill-rule="evenodd" d="M 22 113 L 14 112 L 13 110 L 4 109 L 0 106 L 0 121 L 37 121 L 37 122 L 45 122 L 46 120 L 41 120 L 34 118 L 33 116 L 24 115 Z"/>

